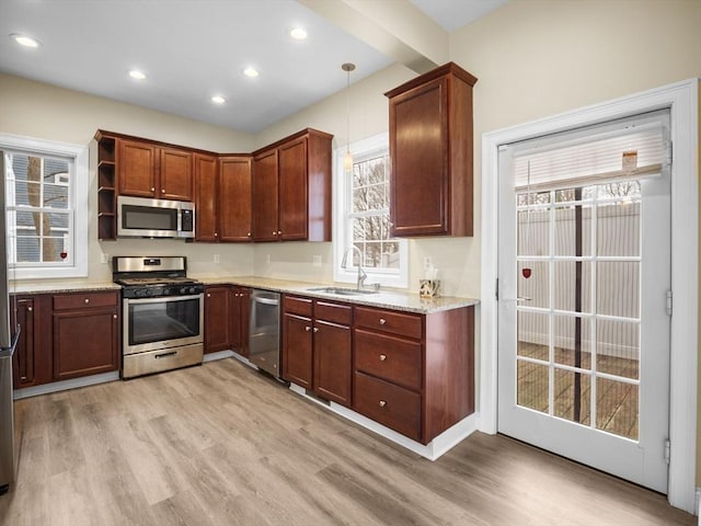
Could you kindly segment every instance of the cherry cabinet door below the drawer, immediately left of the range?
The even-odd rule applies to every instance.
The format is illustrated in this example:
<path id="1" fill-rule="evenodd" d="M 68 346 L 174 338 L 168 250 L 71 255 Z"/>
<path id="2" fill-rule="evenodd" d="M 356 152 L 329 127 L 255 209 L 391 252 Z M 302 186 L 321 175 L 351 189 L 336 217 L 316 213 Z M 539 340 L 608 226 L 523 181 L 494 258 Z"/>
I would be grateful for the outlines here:
<path id="1" fill-rule="evenodd" d="M 117 309 L 54 312 L 54 379 L 117 370 Z"/>

